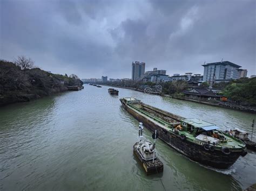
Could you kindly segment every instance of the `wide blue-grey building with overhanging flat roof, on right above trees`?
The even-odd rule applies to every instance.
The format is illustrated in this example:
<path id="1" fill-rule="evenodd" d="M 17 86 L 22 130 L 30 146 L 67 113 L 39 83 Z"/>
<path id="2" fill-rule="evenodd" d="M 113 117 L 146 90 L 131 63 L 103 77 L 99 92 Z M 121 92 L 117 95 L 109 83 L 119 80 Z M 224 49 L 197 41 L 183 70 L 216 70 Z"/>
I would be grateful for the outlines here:
<path id="1" fill-rule="evenodd" d="M 204 79 L 210 84 L 215 81 L 238 79 L 238 69 L 241 67 L 230 61 L 206 63 L 204 65 Z"/>

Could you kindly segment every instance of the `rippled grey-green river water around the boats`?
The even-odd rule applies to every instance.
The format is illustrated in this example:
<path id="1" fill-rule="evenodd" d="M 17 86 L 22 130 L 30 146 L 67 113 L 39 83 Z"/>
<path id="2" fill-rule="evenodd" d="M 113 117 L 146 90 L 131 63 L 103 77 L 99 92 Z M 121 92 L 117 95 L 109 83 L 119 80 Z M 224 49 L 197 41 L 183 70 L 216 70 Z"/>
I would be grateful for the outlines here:
<path id="1" fill-rule="evenodd" d="M 139 122 L 119 98 L 136 97 L 224 130 L 251 132 L 255 115 L 130 89 L 111 96 L 109 87 L 84 87 L 0 108 L 0 190 L 241 190 L 256 183 L 255 152 L 248 151 L 229 169 L 215 170 L 160 140 L 157 153 L 164 172 L 146 176 L 132 150 Z"/>

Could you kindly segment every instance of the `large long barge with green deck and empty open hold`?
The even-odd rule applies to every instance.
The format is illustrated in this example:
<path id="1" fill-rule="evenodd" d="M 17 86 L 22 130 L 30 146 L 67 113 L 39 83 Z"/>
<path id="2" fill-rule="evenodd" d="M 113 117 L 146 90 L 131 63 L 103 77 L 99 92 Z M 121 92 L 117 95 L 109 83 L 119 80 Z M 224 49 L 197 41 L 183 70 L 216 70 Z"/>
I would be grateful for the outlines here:
<path id="1" fill-rule="evenodd" d="M 159 138 L 193 161 L 214 168 L 228 168 L 244 157 L 246 145 L 214 124 L 199 119 L 185 119 L 144 104 L 132 97 L 121 98 L 123 107 Z"/>

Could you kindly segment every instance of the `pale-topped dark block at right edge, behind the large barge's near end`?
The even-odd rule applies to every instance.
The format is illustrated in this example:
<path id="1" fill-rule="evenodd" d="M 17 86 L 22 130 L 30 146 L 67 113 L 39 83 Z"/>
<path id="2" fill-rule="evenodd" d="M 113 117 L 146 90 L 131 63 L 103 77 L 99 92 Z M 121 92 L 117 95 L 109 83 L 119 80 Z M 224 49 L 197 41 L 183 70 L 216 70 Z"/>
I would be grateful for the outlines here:
<path id="1" fill-rule="evenodd" d="M 226 131 L 226 133 L 228 133 L 228 131 Z M 248 138 L 248 133 L 246 131 L 235 128 L 233 130 L 230 130 L 229 133 L 231 136 L 244 142 L 248 149 L 256 151 L 256 143 Z"/>

